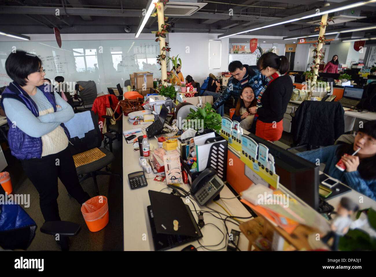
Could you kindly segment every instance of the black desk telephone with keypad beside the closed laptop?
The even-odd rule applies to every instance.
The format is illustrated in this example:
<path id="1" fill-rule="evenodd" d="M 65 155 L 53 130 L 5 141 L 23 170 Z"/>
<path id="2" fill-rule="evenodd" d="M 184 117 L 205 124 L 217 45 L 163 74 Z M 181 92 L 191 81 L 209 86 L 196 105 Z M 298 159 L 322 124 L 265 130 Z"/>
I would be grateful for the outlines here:
<path id="1" fill-rule="evenodd" d="M 217 172 L 212 168 L 206 168 L 192 182 L 191 191 L 194 193 L 197 202 L 203 206 L 219 195 L 223 187 L 224 183 L 218 177 Z"/>

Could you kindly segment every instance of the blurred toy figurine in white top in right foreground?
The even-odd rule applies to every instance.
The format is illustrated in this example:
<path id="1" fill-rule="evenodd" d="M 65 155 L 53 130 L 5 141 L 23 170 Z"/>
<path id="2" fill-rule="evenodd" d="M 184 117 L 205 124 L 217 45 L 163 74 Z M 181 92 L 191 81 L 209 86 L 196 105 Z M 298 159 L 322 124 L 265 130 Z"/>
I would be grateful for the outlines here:
<path id="1" fill-rule="evenodd" d="M 337 206 L 337 217 L 334 219 L 329 233 L 327 233 L 322 241 L 327 243 L 327 241 L 334 237 L 334 241 L 331 249 L 333 251 L 338 251 L 338 244 L 340 243 L 340 237 L 343 237 L 347 231 L 349 231 L 350 224 L 352 220 L 350 216 L 358 210 L 358 205 L 356 205 L 350 198 L 341 198 L 340 203 Z"/>

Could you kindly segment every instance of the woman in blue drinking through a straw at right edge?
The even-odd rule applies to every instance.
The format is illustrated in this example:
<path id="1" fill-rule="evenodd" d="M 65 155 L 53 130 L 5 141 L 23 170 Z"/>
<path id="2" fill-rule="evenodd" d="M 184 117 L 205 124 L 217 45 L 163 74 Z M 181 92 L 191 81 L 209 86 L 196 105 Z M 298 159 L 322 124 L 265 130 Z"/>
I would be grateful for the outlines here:
<path id="1" fill-rule="evenodd" d="M 361 150 L 355 156 L 344 156 L 345 153 L 351 155 L 358 148 Z M 320 163 L 326 163 L 325 174 L 376 200 L 376 120 L 359 128 L 353 144 L 331 145 L 297 155 L 313 163 L 319 159 Z M 335 166 L 340 159 L 346 165 L 343 172 Z"/>

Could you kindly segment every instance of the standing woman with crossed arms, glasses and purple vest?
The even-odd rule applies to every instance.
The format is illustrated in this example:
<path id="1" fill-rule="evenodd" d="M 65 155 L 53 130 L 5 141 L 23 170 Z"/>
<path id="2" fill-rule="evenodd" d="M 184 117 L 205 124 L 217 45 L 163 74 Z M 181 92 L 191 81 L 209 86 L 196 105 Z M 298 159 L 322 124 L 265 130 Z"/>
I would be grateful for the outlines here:
<path id="1" fill-rule="evenodd" d="M 58 178 L 79 204 L 90 199 L 68 149 L 70 136 L 64 122 L 73 118 L 73 109 L 51 85 L 44 84 L 45 70 L 36 55 L 17 50 L 9 54 L 5 69 L 13 80 L 0 100 L 10 127 L 9 148 L 38 190 L 44 220 L 60 220 Z M 60 239 L 58 243 L 65 240 L 66 247 L 66 238 Z"/>

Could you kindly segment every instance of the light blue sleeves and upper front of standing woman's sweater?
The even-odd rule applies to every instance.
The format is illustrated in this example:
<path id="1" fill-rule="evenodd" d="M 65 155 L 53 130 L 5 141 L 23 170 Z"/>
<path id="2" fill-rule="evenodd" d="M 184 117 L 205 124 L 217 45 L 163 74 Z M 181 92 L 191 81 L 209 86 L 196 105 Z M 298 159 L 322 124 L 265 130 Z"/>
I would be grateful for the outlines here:
<path id="1" fill-rule="evenodd" d="M 38 111 L 44 111 L 52 107 L 39 88 L 36 89 L 36 94 L 30 97 L 38 106 Z M 55 100 L 56 104 L 61 106 L 61 108 L 57 108 L 56 112 L 39 117 L 35 117 L 23 103 L 16 99 L 6 98 L 3 100 L 3 104 L 6 116 L 9 120 L 15 122 L 17 127 L 27 135 L 39 138 L 52 132 L 60 123 L 65 123 L 74 116 L 72 107 L 56 92 Z"/>

